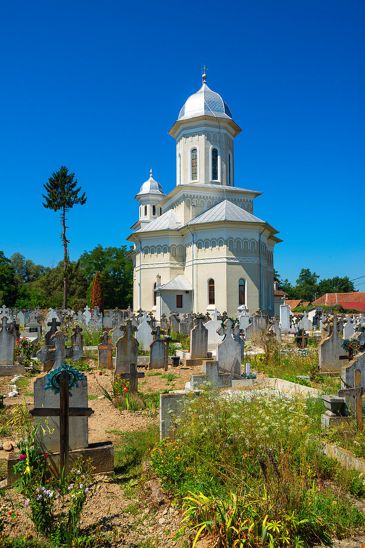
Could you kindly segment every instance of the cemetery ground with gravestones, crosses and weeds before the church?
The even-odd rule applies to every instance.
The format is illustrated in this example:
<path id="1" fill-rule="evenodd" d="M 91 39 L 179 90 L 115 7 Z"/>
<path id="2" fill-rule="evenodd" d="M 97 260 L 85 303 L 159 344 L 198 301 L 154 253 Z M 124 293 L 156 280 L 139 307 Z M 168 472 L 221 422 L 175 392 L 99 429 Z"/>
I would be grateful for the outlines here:
<path id="1" fill-rule="evenodd" d="M 227 528 L 232 545 L 294 546 L 363 530 L 362 315 L 282 329 L 242 307 L 160 322 L 50 309 L 28 313 L 34 338 L 2 311 L 9 538 L 200 546 Z"/>

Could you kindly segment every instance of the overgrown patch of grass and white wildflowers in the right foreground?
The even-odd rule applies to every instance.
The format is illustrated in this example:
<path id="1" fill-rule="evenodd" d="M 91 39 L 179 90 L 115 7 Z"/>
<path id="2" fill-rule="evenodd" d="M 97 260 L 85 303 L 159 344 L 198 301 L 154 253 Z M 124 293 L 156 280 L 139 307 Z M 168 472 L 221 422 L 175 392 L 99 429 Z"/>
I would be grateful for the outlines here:
<path id="1" fill-rule="evenodd" d="M 230 399 L 204 391 L 188 400 L 175 433 L 157 443 L 151 460 L 182 502 L 192 539 L 198 523 L 224 548 L 299 547 L 363 531 L 364 515 L 344 495 L 363 496 L 363 477 L 318 447 L 324 411 L 321 399 L 268 389 Z"/>

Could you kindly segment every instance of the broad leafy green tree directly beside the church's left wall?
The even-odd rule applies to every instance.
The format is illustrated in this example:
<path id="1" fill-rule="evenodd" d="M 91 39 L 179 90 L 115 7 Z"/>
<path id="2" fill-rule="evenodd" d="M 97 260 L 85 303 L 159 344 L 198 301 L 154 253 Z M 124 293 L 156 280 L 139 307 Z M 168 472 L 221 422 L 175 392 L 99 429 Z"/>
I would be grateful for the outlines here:
<path id="1" fill-rule="evenodd" d="M 100 273 L 106 309 L 117 306 L 126 309 L 132 304 L 133 266 L 127 260 L 128 252 L 126 246 L 103 248 L 99 244 L 80 256 L 89 283 L 96 272 Z"/>

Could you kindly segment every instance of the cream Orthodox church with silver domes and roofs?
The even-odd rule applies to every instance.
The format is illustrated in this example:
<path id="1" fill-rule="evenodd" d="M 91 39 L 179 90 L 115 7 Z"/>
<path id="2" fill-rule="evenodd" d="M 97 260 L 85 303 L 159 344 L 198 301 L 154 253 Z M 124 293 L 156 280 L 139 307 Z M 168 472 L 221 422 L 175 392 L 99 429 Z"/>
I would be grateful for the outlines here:
<path id="1" fill-rule="evenodd" d="M 274 315 L 274 246 L 282 240 L 253 214 L 262 192 L 235 186 L 234 139 L 241 128 L 202 76 L 169 134 L 176 139 L 176 186 L 153 178 L 135 199 L 133 309 L 235 316 L 240 305 Z"/>

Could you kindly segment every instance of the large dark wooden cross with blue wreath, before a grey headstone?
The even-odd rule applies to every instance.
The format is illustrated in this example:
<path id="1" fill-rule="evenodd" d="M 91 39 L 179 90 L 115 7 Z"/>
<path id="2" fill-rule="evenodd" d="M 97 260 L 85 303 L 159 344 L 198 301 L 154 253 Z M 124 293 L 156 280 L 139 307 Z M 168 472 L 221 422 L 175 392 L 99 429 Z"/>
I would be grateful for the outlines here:
<path id="1" fill-rule="evenodd" d="M 68 443 L 68 418 L 70 416 L 90 416 L 94 410 L 90 407 L 69 407 L 69 374 L 62 371 L 60 375 L 60 407 L 34 407 L 30 410 L 32 416 L 59 416 L 60 417 L 60 476 L 63 471 L 65 477 L 68 474 L 69 443 Z"/>

